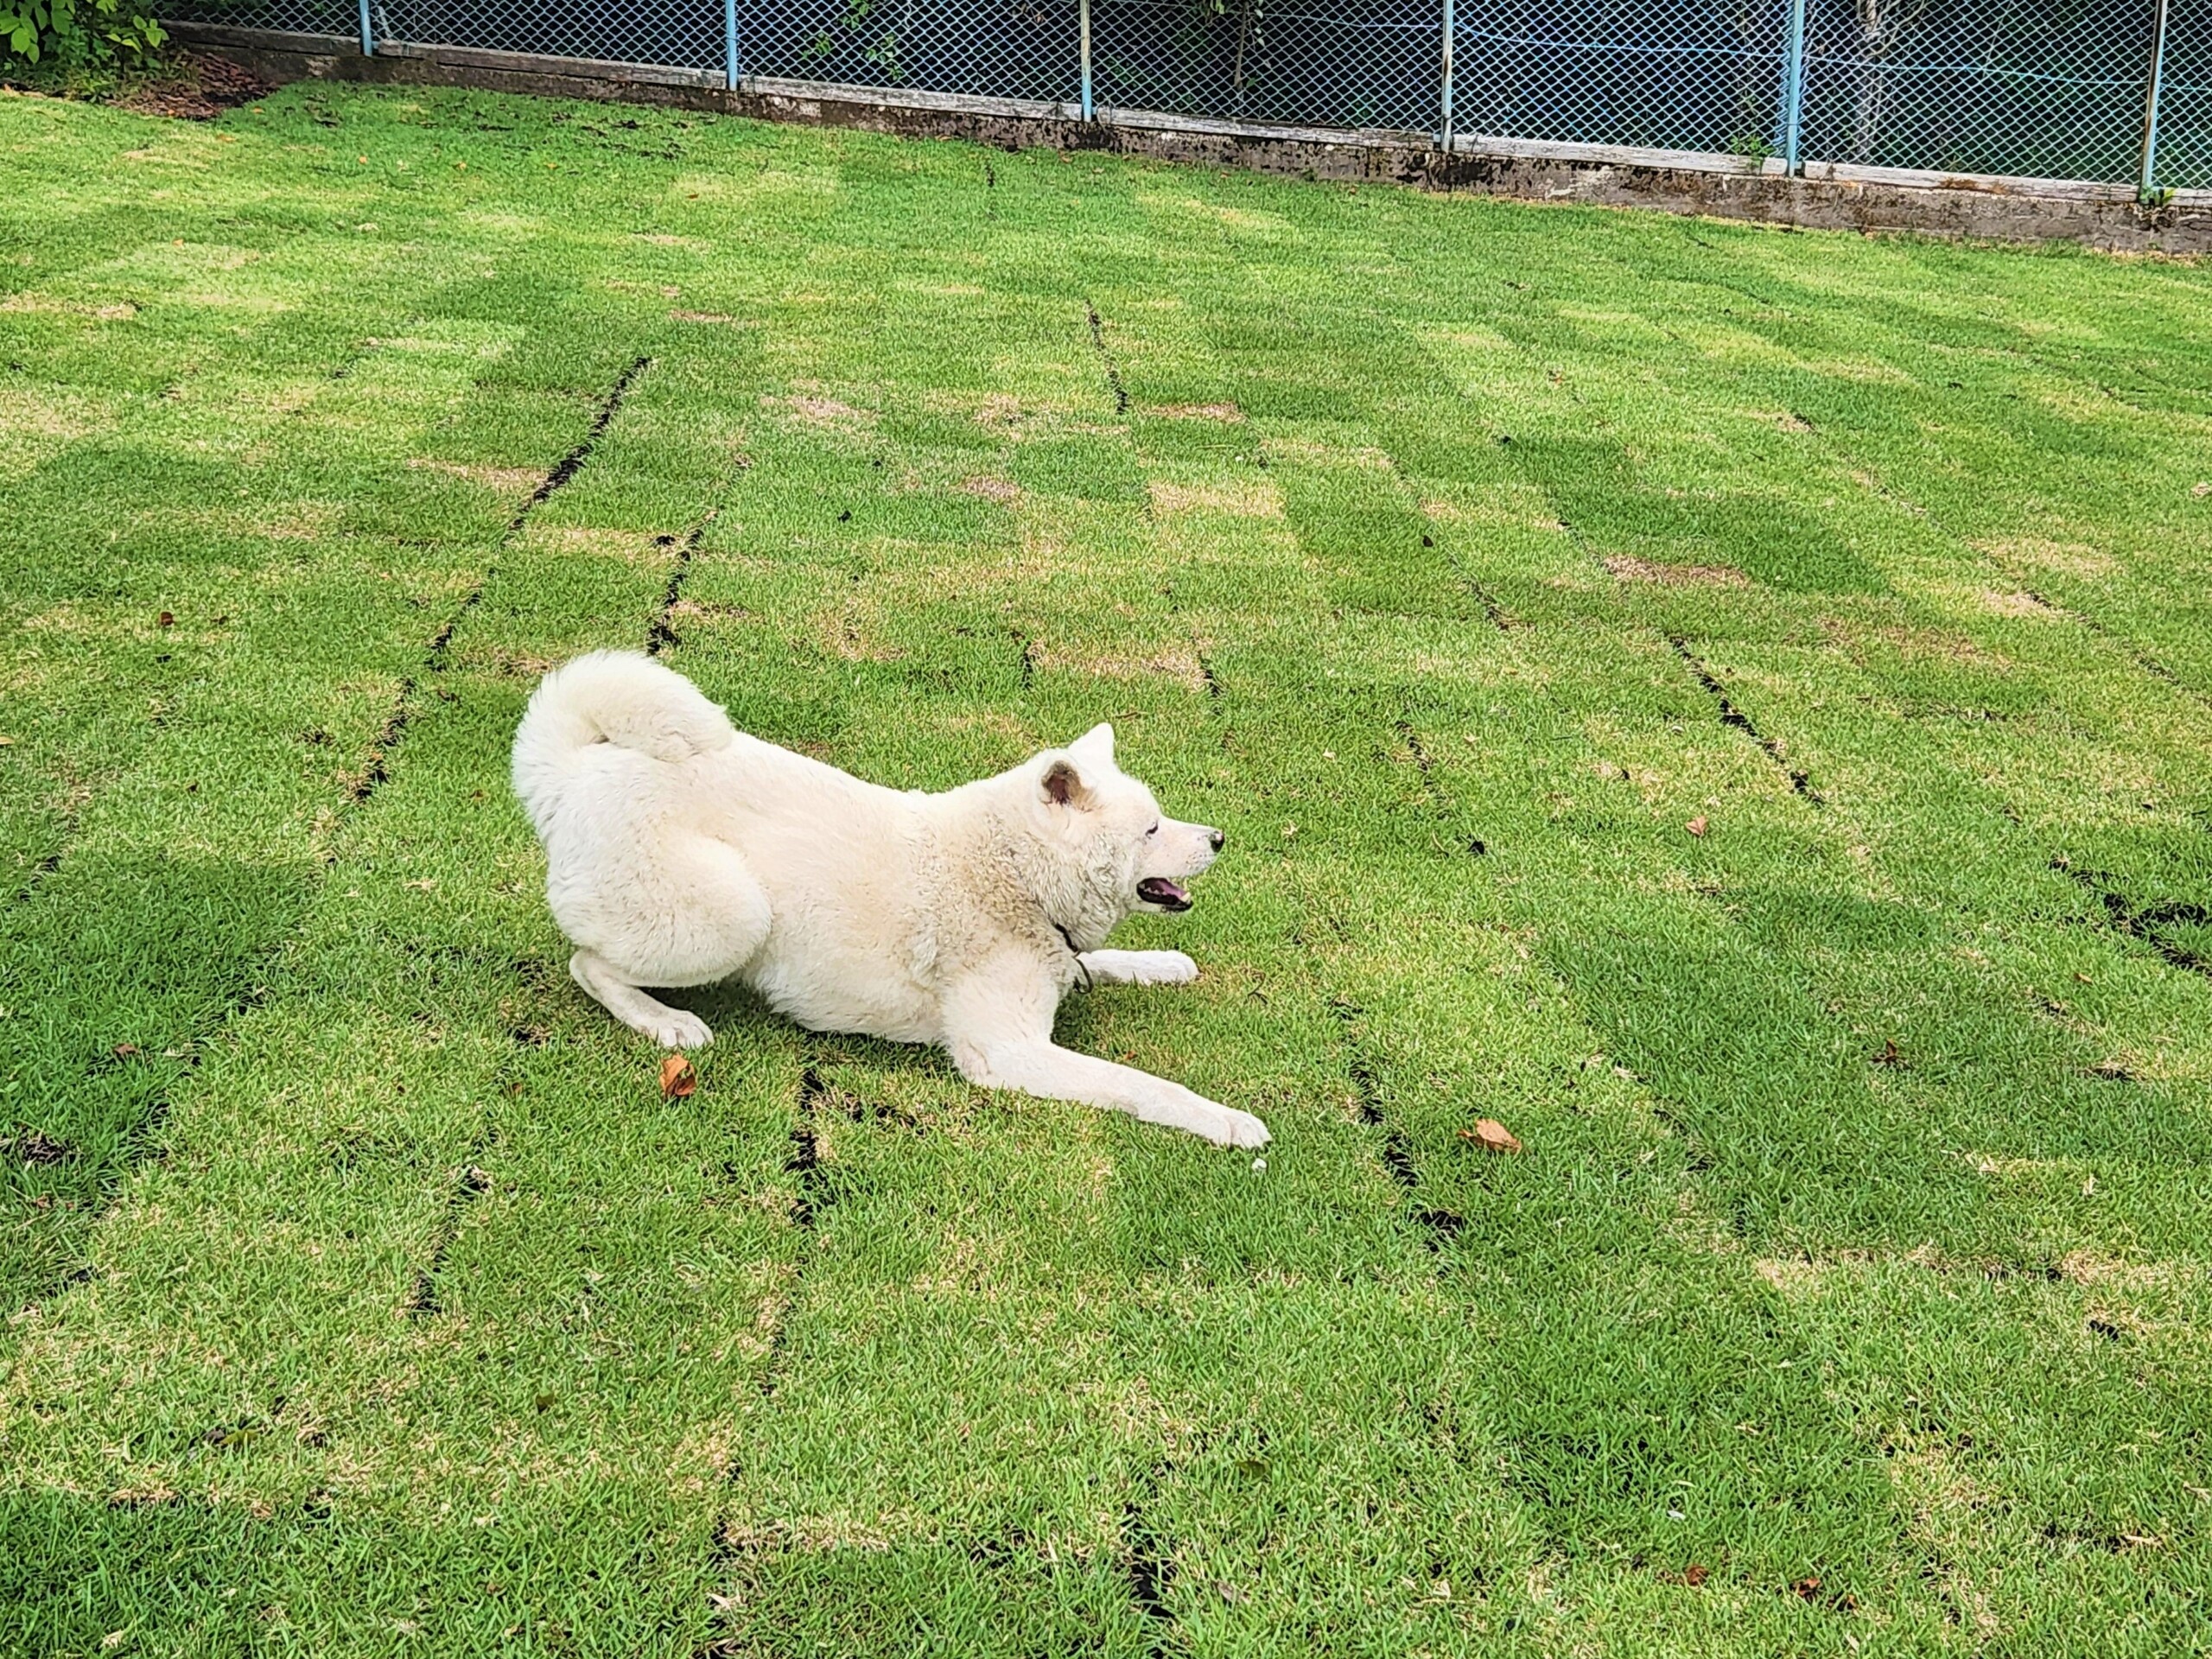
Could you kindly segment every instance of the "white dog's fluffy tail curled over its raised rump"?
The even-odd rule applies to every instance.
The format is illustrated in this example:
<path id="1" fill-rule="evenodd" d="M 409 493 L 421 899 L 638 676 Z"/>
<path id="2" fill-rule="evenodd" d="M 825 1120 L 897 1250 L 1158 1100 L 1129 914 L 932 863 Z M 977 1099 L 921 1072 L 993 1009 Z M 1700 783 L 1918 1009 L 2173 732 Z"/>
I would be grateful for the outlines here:
<path id="1" fill-rule="evenodd" d="M 728 748 L 737 730 L 697 686 L 639 650 L 595 650 L 538 681 L 515 730 L 515 794 L 538 801 L 593 743 L 688 761 Z"/>

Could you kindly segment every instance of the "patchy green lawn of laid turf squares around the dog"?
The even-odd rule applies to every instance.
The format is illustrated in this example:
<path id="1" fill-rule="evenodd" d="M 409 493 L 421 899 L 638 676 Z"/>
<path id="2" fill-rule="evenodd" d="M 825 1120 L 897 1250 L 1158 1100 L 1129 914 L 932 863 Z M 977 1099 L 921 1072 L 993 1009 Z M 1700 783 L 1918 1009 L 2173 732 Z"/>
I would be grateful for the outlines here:
<path id="1" fill-rule="evenodd" d="M 0 1652 L 2205 1652 L 2205 272 L 0 95 Z M 533 679 L 1230 852 L 1062 1037 L 568 982 Z M 1471 1141 L 1475 1117 L 1522 1137 Z"/>

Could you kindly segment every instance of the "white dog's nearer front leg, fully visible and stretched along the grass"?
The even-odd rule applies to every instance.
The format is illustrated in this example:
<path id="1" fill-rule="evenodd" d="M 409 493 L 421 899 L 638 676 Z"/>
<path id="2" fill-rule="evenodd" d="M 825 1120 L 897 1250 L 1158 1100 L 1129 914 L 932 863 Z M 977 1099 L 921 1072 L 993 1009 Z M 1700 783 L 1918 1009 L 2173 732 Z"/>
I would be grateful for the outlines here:
<path id="1" fill-rule="evenodd" d="M 1265 1146 L 1267 1126 L 1181 1084 L 1135 1066 L 1079 1055 L 1053 1042 L 1057 989 L 1042 975 L 975 975 L 947 998 L 947 1048 L 960 1075 L 984 1088 L 1020 1088 L 1044 1099 L 1141 1117 L 1217 1146 Z"/>

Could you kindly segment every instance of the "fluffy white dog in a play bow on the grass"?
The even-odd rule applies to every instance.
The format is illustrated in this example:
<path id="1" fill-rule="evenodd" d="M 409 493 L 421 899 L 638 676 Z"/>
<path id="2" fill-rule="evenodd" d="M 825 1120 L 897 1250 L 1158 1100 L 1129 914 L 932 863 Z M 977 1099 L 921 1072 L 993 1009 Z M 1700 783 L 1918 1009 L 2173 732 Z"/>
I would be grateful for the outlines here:
<path id="1" fill-rule="evenodd" d="M 646 984 L 741 978 L 816 1031 L 942 1044 L 989 1088 L 1110 1106 L 1223 1146 L 1267 1126 L 1073 1053 L 1073 984 L 1186 984 L 1181 951 L 1106 951 L 1130 911 L 1183 911 L 1221 832 L 1159 816 L 1097 726 L 995 779 L 900 794 L 745 737 L 637 653 L 555 668 L 515 732 L 575 982 L 668 1048 L 712 1042 Z"/>

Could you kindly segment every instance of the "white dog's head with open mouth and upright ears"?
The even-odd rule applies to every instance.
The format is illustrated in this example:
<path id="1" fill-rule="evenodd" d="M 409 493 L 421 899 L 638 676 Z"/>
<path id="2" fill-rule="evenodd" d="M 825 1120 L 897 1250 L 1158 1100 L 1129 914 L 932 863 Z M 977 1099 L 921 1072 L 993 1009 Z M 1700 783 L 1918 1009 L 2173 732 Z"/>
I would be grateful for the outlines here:
<path id="1" fill-rule="evenodd" d="M 1113 726 L 1093 726 L 1064 750 L 1046 750 L 1029 770 L 1031 810 L 1079 872 L 1088 918 L 1113 927 L 1139 909 L 1190 909 L 1183 880 L 1214 860 L 1223 834 L 1161 816 L 1152 792 L 1115 765 Z"/>

